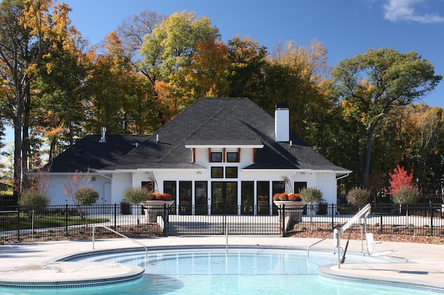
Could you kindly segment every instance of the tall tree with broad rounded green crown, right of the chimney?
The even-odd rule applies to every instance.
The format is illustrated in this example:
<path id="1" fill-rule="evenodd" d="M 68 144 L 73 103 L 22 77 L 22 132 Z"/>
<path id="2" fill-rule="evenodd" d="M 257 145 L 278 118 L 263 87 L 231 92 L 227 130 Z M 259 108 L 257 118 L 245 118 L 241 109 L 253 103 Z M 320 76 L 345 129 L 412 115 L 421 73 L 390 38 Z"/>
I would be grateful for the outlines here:
<path id="1" fill-rule="evenodd" d="M 367 187 L 376 127 L 396 106 L 409 105 L 442 79 L 418 53 L 370 49 L 341 60 L 332 71 L 346 111 L 357 125 L 361 186 Z"/>

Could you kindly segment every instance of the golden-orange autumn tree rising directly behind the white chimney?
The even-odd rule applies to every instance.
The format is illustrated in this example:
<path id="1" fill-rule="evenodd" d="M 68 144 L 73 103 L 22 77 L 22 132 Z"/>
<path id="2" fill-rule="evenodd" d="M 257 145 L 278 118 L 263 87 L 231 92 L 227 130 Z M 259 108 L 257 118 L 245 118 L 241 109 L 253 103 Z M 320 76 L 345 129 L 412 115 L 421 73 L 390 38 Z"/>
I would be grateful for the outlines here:
<path id="1" fill-rule="evenodd" d="M 305 131 L 311 127 L 311 118 L 315 118 L 318 112 L 323 116 L 331 107 L 320 87 L 327 70 L 327 50 L 321 42 L 314 40 L 309 46 L 294 42 L 278 44 L 272 54 L 272 68 L 266 77 L 270 85 L 270 99 L 289 103 L 293 132 L 305 138 Z"/>

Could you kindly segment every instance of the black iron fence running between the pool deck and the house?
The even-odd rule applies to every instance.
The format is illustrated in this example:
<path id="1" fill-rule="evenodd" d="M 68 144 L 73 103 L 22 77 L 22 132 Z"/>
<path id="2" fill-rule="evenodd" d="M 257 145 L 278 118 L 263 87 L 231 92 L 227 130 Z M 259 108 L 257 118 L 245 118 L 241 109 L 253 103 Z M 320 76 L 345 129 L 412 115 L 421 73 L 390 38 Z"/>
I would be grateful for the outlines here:
<path id="1" fill-rule="evenodd" d="M 228 208 L 226 206 L 225 208 Z M 359 211 L 347 204 L 315 206 L 231 206 L 214 214 L 211 206 L 133 204 L 92 206 L 0 206 L 0 243 L 23 240 L 91 239 L 94 224 L 112 227 L 130 238 L 164 235 L 290 235 L 332 231 Z M 368 231 L 444 236 L 444 206 L 377 204 L 366 219 Z M 96 228 L 97 238 L 119 238 Z"/>

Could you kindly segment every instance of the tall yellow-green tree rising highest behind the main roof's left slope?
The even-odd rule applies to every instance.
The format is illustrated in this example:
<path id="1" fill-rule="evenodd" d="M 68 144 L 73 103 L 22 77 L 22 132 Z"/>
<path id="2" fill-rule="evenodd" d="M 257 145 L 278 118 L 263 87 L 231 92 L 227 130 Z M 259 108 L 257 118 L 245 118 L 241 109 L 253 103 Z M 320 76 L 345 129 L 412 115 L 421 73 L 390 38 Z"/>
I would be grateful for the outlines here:
<path id="1" fill-rule="evenodd" d="M 199 42 L 219 39 L 219 30 L 207 17 L 194 12 L 176 12 L 162 20 L 153 33 L 146 35 L 141 53 L 144 71 L 154 89 L 160 124 L 166 123 L 191 104 L 183 96 L 186 78 Z"/>

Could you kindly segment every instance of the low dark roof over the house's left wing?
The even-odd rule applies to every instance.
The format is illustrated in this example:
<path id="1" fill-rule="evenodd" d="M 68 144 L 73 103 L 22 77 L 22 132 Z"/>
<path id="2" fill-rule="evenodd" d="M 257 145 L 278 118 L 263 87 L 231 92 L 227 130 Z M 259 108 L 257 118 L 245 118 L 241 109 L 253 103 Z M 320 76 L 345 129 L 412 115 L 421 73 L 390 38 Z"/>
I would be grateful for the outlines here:
<path id="1" fill-rule="evenodd" d="M 108 135 L 106 142 L 101 143 L 101 136 L 87 135 L 76 142 L 51 163 L 44 167 L 53 173 L 94 172 L 110 166 L 142 143 L 148 136 L 143 135 Z M 46 169 L 45 169 L 46 168 Z"/>

